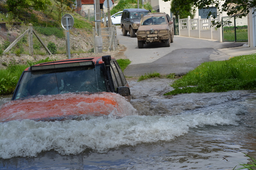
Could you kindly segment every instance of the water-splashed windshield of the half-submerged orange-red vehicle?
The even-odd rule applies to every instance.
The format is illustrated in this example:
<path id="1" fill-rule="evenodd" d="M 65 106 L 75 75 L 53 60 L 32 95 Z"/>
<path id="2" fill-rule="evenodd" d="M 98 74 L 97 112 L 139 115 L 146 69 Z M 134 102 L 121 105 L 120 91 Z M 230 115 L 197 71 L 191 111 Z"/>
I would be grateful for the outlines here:
<path id="1" fill-rule="evenodd" d="M 13 99 L 68 92 L 106 92 L 102 65 L 86 69 L 24 72 Z"/>

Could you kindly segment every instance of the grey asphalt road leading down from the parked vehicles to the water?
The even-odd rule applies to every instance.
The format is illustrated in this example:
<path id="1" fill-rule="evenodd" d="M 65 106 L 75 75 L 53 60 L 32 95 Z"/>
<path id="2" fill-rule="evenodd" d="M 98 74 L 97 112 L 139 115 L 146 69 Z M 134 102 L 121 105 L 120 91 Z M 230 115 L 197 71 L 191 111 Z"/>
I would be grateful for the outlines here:
<path id="1" fill-rule="evenodd" d="M 116 30 L 119 43 L 127 48 L 125 56 L 132 61 L 124 70 L 124 75 L 128 77 L 140 77 L 150 72 L 184 75 L 203 62 L 227 60 L 231 55 L 221 49 L 244 45 L 174 36 L 171 47 L 164 47 L 164 43 L 151 43 L 139 49 L 136 37 L 131 38 L 129 33 L 123 36 L 120 26 Z"/>

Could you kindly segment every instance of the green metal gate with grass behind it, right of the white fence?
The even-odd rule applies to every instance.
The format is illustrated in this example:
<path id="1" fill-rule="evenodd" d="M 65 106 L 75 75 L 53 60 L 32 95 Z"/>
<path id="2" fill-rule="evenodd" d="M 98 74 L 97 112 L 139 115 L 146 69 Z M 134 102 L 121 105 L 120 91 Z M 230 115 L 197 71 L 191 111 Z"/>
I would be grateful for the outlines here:
<path id="1" fill-rule="evenodd" d="M 239 15 L 222 17 L 224 21 L 231 21 L 228 25 L 222 25 L 223 42 L 248 41 L 247 17 L 239 18 Z"/>

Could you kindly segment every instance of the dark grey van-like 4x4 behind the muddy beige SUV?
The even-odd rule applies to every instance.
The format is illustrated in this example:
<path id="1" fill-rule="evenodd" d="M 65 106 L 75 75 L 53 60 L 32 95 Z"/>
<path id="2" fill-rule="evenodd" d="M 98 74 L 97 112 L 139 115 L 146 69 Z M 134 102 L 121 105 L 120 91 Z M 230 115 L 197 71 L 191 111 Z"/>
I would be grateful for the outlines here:
<path id="1" fill-rule="evenodd" d="M 135 37 L 135 33 L 137 32 L 139 26 L 137 24 L 140 23 L 141 14 L 147 15 L 148 10 L 133 8 L 133 9 L 124 9 L 121 17 L 121 27 L 122 33 L 124 36 L 127 35 L 129 31 L 131 37 Z"/>

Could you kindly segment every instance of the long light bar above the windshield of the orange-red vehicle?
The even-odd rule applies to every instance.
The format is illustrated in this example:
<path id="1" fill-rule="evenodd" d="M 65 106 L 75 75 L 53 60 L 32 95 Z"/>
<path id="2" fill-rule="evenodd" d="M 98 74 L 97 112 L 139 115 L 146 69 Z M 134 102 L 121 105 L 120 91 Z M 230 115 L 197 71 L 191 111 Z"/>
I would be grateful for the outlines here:
<path id="1" fill-rule="evenodd" d="M 37 70 L 51 70 L 51 69 L 61 69 L 61 68 L 68 68 L 68 67 L 80 67 L 80 66 L 89 66 L 94 65 L 92 61 L 87 62 L 76 62 L 76 63 L 62 63 L 62 64 L 51 64 L 51 65 L 36 65 L 31 66 L 31 71 Z"/>

